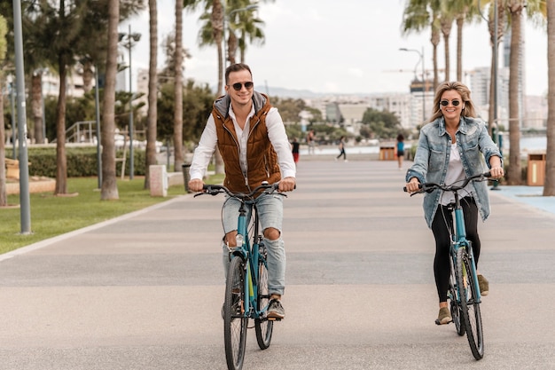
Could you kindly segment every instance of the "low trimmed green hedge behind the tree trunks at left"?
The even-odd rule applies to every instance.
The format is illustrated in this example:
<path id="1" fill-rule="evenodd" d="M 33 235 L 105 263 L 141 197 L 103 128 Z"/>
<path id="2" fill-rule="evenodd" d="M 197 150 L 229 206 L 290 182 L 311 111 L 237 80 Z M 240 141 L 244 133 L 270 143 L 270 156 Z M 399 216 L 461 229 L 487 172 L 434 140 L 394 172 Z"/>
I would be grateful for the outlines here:
<path id="1" fill-rule="evenodd" d="M 12 158 L 12 148 L 6 147 L 6 158 Z M 135 175 L 145 175 L 145 150 L 133 151 L 135 161 Z M 116 158 L 121 158 L 123 151 L 116 153 Z M 56 177 L 56 147 L 27 147 L 30 176 Z M 129 150 L 126 154 L 125 175 L 129 176 Z M 67 177 L 98 176 L 97 148 L 96 147 L 69 147 L 66 146 Z M 116 162 L 117 176 L 121 176 L 121 161 Z"/>

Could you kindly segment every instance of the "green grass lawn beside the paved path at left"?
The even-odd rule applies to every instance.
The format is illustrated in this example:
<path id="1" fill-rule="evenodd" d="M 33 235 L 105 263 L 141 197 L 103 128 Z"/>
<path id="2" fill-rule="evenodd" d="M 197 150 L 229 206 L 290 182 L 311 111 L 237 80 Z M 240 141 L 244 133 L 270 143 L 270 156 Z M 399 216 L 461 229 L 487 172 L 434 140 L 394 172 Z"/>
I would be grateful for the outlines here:
<path id="1" fill-rule="evenodd" d="M 207 183 L 222 180 L 223 176 L 211 177 Z M 151 197 L 150 191 L 144 189 L 145 178 L 135 177 L 133 180 L 118 179 L 119 201 L 100 201 L 97 177 L 68 178 L 67 184 L 68 193 L 78 195 L 30 195 L 30 234 L 21 234 L 19 208 L 0 208 L 0 254 L 138 209 L 145 209 L 185 193 L 184 185 L 175 185 L 168 188 L 168 197 Z M 8 204 L 20 204 L 19 194 L 9 195 Z"/>

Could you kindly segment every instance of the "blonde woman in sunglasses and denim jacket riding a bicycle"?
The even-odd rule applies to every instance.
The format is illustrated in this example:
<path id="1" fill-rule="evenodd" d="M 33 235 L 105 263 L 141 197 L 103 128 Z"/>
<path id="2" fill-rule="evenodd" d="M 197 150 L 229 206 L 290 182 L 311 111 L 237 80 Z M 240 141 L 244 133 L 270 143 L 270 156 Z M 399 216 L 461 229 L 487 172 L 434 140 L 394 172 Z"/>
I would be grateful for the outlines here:
<path id="1" fill-rule="evenodd" d="M 407 171 L 406 188 L 418 191 L 418 184 L 431 182 L 452 184 L 483 172 L 488 165 L 491 178 L 504 176 L 503 157 L 489 137 L 485 123 L 476 118 L 470 90 L 463 83 L 445 82 L 438 86 L 434 97 L 432 117 L 420 130 L 414 163 Z M 478 214 L 482 221 L 489 216 L 489 195 L 483 182 L 470 182 L 459 192 L 465 216 L 466 237 L 472 241 L 476 266 L 481 243 L 478 235 Z M 435 190 L 424 197 L 426 224 L 434 232 L 435 286 L 440 301 L 436 322 L 448 324 L 451 315 L 447 304 L 449 289 L 450 223 L 449 203 L 453 195 Z M 481 295 L 488 295 L 489 282 L 478 273 Z"/>

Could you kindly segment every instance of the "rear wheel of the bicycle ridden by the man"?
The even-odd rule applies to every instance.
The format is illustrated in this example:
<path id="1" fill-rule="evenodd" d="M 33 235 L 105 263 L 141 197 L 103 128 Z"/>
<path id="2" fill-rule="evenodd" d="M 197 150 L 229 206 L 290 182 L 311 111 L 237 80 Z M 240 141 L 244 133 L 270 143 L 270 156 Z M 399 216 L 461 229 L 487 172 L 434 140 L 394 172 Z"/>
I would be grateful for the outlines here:
<path id="1" fill-rule="evenodd" d="M 268 289 L 268 269 L 266 268 L 266 247 L 260 245 L 260 259 L 258 263 L 258 310 L 266 307 L 270 302 L 270 291 Z M 258 319 L 254 319 L 254 331 L 256 332 L 256 342 L 261 350 L 270 347 L 271 335 L 274 322 L 266 319 L 266 312 Z"/>

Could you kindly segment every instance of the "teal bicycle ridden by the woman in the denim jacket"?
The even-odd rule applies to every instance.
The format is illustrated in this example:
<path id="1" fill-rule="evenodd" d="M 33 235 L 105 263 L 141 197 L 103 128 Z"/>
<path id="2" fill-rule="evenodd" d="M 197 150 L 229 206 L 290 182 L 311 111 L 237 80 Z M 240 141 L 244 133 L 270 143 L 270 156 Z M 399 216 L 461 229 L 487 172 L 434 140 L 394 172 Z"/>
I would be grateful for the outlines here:
<path id="1" fill-rule="evenodd" d="M 473 357 L 481 359 L 484 356 L 484 338 L 481 325 L 481 293 L 478 284 L 478 274 L 474 263 L 473 248 L 470 240 L 466 239 L 465 216 L 460 205 L 457 191 L 465 188 L 471 181 L 487 181 L 491 177 L 489 172 L 465 178 L 460 185 L 440 185 L 426 183 L 419 185 L 418 193 L 431 193 L 435 189 L 453 193 L 455 201 L 449 204 L 450 218 L 445 218 L 451 234 L 449 278 L 449 311 L 457 329 L 458 335 L 465 335 L 473 352 Z M 406 192 L 407 189 L 404 188 Z M 437 323 L 437 322 L 436 322 Z"/>

